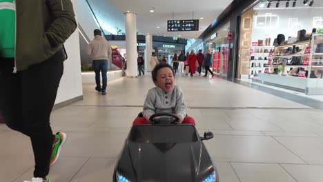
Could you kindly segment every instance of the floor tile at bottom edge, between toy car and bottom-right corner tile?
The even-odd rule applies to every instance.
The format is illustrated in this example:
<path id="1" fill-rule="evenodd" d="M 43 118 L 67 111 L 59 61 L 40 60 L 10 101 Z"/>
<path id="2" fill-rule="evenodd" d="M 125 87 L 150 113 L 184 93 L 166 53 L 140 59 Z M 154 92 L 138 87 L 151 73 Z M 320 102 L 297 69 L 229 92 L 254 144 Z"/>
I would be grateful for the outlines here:
<path id="1" fill-rule="evenodd" d="M 279 164 L 232 163 L 241 182 L 297 182 Z"/>

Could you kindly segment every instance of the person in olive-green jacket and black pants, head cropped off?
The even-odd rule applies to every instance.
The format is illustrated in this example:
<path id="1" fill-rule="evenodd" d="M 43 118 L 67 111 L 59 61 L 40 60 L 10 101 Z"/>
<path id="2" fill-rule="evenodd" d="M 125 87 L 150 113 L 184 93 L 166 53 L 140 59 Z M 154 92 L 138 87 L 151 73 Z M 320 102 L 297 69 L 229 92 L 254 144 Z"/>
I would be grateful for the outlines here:
<path id="1" fill-rule="evenodd" d="M 66 59 L 63 43 L 77 28 L 72 2 L 1 0 L 0 17 L 0 110 L 9 128 L 30 138 L 32 182 L 49 182 L 67 139 L 52 133 L 50 113 Z M 3 143 L 3 150 L 20 144 Z"/>

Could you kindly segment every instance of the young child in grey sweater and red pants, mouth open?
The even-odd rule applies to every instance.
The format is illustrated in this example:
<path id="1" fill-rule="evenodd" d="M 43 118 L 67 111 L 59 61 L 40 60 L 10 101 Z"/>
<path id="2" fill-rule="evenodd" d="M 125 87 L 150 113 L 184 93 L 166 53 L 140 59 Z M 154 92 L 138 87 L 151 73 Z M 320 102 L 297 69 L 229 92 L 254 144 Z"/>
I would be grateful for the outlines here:
<path id="1" fill-rule="evenodd" d="M 167 63 L 159 63 L 152 72 L 156 87 L 148 91 L 144 103 L 144 117 L 137 118 L 133 125 L 151 123 L 151 115 L 159 112 L 171 112 L 179 117 L 179 123 L 195 125 L 192 117 L 187 117 L 182 91 L 175 85 L 174 70 Z"/>

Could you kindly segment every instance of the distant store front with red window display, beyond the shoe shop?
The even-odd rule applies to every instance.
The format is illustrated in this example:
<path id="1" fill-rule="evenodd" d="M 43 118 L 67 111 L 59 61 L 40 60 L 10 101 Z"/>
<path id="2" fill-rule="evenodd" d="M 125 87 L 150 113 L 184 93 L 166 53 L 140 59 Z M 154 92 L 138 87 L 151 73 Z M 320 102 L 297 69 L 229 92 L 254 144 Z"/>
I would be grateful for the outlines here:
<path id="1" fill-rule="evenodd" d="M 223 78 L 228 77 L 228 57 L 230 48 L 232 48 L 230 40 L 228 40 L 229 32 L 230 23 L 226 23 L 205 40 L 213 55 L 212 69 L 215 74 Z"/>

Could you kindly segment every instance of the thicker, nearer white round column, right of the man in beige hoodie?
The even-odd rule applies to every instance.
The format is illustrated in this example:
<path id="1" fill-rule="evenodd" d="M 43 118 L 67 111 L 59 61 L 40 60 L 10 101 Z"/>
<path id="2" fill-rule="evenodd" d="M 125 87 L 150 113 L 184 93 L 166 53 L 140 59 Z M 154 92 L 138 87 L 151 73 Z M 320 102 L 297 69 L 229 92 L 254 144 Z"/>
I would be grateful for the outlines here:
<path id="1" fill-rule="evenodd" d="M 126 50 L 127 76 L 137 77 L 137 14 L 125 12 L 126 15 Z"/>

